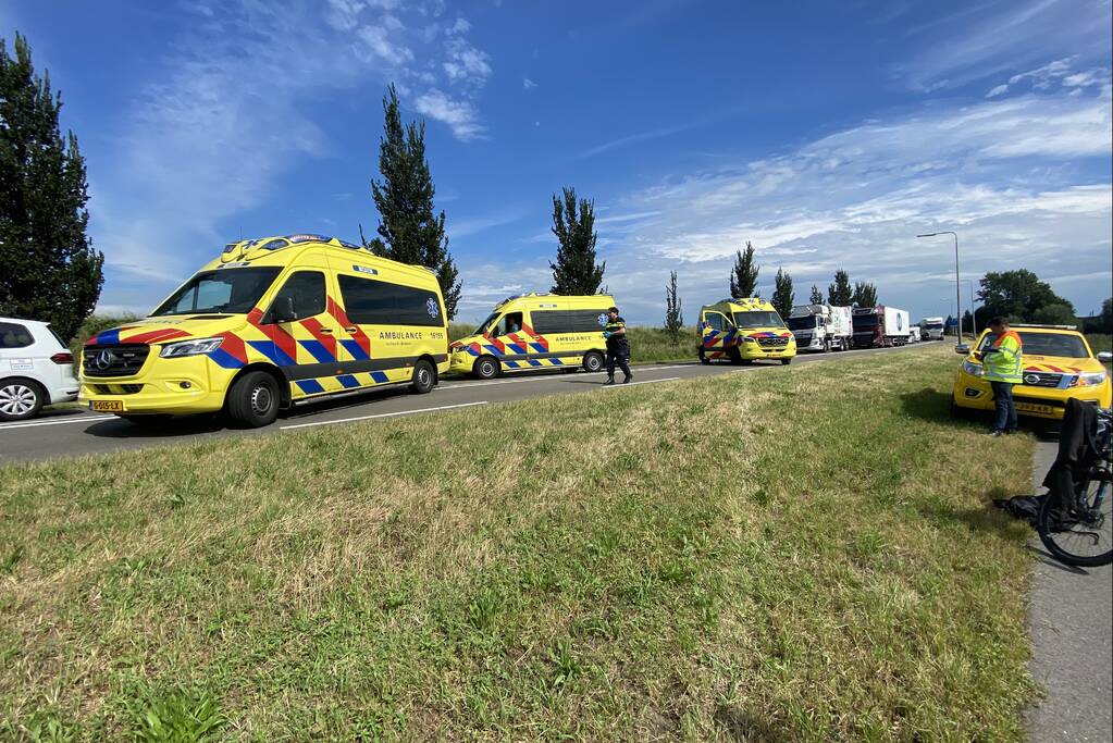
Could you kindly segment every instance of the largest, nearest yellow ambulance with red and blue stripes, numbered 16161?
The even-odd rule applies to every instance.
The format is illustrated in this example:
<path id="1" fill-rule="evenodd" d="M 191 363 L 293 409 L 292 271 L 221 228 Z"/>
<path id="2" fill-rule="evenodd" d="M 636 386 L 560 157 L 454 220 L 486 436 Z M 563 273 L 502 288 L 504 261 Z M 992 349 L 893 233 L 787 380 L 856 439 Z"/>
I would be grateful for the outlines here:
<path id="1" fill-rule="evenodd" d="M 227 245 L 149 317 L 90 338 L 80 399 L 137 422 L 224 410 L 265 426 L 279 408 L 338 393 L 427 393 L 447 367 L 432 271 L 288 235 Z"/>

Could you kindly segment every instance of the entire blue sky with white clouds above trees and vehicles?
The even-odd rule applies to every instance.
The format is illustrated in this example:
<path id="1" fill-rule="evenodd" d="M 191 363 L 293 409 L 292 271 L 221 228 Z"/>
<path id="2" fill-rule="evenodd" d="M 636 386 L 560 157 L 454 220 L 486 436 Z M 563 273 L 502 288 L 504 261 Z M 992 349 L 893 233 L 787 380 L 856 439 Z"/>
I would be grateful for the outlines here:
<path id="1" fill-rule="evenodd" d="M 1027 267 L 1099 308 L 1110 28 L 1107 0 L 0 7 L 86 155 L 102 310 L 146 311 L 240 234 L 370 237 L 394 81 L 427 122 L 461 319 L 551 286 L 551 195 L 574 186 L 642 324 L 671 269 L 689 321 L 726 296 L 746 240 L 765 296 L 779 266 L 800 301 L 844 267 L 946 315 L 953 246 L 915 238 L 944 229 L 964 278 Z"/>

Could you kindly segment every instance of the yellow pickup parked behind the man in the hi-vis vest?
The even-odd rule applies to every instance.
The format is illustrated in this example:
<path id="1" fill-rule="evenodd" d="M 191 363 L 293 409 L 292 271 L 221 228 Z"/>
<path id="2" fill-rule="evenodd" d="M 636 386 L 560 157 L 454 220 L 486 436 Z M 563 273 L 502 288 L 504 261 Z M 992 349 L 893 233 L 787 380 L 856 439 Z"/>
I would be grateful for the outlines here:
<path id="1" fill-rule="evenodd" d="M 1021 336 L 1022 344 L 1024 382 L 1013 387 L 1018 415 L 1061 419 L 1071 397 L 1110 407 L 1110 375 L 1102 364 L 1113 360 L 1113 354 L 1095 356 L 1086 337 L 1073 325 L 1011 327 Z M 955 347 L 966 356 L 951 393 L 955 413 L 994 409 L 993 388 L 982 378 L 982 351 L 996 339 L 986 329 L 973 348 L 965 344 Z"/>

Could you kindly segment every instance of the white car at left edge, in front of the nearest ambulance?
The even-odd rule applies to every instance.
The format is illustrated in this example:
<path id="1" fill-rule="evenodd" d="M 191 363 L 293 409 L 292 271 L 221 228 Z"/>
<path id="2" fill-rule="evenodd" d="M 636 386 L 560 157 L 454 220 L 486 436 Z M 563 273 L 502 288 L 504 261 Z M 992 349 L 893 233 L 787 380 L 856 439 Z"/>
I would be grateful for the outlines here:
<path id="1" fill-rule="evenodd" d="M 76 400 L 73 356 L 46 323 L 0 317 L 0 420 Z"/>

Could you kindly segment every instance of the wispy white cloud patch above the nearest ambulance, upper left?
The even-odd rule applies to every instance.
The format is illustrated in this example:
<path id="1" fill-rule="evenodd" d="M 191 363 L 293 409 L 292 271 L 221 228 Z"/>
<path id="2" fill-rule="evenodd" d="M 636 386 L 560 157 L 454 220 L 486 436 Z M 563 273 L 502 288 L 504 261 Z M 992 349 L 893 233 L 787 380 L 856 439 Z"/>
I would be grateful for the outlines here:
<path id="1" fill-rule="evenodd" d="M 440 3 L 194 0 L 184 12 L 191 22 L 165 44 L 166 57 L 152 67 L 161 77 L 120 112 L 114 145 L 87 148 L 90 232 L 109 266 L 106 306 L 149 307 L 237 237 L 225 231 L 227 222 L 265 201 L 294 164 L 329 152 L 319 110 L 306 100 L 394 80 L 403 105 L 416 90 L 418 112 L 459 138 L 483 130 L 474 105 L 430 77 L 429 65 L 440 69 L 449 59 L 443 37 L 426 44 L 421 32 L 443 12 Z M 463 32 L 460 20 L 454 28 Z M 296 52 L 275 39 L 327 53 Z"/>

